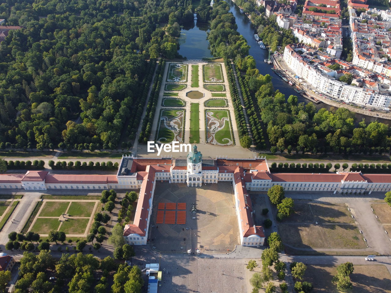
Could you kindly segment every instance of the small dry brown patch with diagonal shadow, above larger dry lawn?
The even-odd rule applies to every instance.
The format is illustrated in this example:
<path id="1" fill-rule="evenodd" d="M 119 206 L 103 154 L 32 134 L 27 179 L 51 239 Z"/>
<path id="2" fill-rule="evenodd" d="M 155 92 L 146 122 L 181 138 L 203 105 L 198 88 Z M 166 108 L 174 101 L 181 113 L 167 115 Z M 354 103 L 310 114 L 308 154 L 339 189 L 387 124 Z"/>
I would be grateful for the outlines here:
<path id="1" fill-rule="evenodd" d="M 345 204 L 314 204 L 310 207 L 319 223 L 354 223 Z"/>

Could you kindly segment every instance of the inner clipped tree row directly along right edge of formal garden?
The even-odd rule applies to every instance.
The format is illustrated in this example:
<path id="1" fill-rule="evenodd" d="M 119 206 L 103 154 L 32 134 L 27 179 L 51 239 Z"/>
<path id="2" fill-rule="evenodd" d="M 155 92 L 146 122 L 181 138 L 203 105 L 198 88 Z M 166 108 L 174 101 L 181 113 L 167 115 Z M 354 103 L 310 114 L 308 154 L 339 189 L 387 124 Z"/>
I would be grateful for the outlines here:
<path id="1" fill-rule="evenodd" d="M 233 74 L 233 69 L 230 60 L 225 60 L 225 67 L 227 71 L 228 84 L 230 86 L 231 100 L 233 104 L 233 111 L 235 113 L 235 120 L 236 120 L 238 132 L 239 132 L 239 139 L 240 139 L 246 134 L 248 134 L 246 120 L 244 119 L 242 103 L 240 102 L 238 88 L 235 82 L 235 75 Z"/>

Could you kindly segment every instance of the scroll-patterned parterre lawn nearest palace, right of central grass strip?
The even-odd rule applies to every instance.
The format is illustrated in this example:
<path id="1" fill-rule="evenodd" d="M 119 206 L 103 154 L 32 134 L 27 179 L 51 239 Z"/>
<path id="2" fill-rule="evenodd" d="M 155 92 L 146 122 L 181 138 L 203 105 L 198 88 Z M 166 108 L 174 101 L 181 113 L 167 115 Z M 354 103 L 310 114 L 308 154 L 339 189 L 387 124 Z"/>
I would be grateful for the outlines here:
<path id="1" fill-rule="evenodd" d="M 228 110 L 205 110 L 205 114 L 208 143 L 233 144 L 230 112 Z"/>

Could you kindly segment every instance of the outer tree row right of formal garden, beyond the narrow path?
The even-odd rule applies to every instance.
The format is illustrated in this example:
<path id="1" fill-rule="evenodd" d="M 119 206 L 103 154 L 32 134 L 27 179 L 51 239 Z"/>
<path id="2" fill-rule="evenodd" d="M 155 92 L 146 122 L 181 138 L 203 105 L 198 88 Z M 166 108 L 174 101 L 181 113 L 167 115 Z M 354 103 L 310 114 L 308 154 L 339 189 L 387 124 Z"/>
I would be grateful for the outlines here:
<path id="1" fill-rule="evenodd" d="M 257 116 L 257 113 L 259 113 L 259 111 L 257 111 L 256 107 L 258 106 L 256 105 L 256 103 L 254 103 L 254 97 L 251 96 L 247 81 L 242 79 L 240 71 L 238 70 L 237 76 L 240 88 L 242 88 L 243 101 L 247 109 L 247 116 L 251 126 L 251 132 L 253 133 L 255 147 L 257 150 L 264 149 L 266 148 L 266 144 L 264 133 L 262 130 L 261 120 L 260 117 Z"/>

